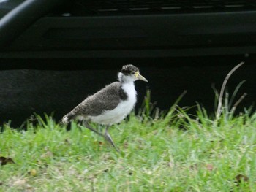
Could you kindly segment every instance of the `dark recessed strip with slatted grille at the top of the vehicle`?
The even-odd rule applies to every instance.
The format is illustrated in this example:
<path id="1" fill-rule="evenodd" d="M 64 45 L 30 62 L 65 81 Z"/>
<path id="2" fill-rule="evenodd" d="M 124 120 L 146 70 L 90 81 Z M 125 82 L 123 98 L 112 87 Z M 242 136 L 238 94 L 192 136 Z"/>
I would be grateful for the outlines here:
<path id="1" fill-rule="evenodd" d="M 252 0 L 75 0 L 54 12 L 56 15 L 69 12 L 72 16 L 88 15 L 143 15 L 188 12 L 230 12 L 252 10 L 256 2 Z"/>

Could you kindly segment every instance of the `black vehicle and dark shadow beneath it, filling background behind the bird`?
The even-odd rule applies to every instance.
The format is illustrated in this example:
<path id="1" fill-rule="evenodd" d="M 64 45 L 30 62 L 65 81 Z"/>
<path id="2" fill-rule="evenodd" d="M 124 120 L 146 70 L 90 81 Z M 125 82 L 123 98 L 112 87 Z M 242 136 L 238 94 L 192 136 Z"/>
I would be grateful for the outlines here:
<path id="1" fill-rule="evenodd" d="M 211 85 L 245 61 L 228 86 L 246 80 L 249 107 L 255 53 L 255 1 L 0 0 L 1 123 L 19 125 L 33 112 L 59 119 L 128 63 L 162 110 L 187 90 L 181 105 L 214 111 Z"/>

